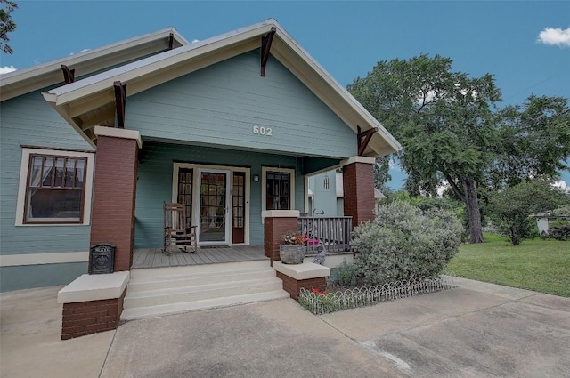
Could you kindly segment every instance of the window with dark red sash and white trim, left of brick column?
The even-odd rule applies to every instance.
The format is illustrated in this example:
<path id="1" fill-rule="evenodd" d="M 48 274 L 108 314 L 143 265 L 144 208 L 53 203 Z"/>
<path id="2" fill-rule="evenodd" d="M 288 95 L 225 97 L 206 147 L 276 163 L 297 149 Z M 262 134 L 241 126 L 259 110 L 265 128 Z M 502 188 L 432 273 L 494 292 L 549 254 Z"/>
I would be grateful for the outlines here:
<path id="1" fill-rule="evenodd" d="M 23 149 L 16 225 L 88 224 L 93 157 L 87 152 Z"/>

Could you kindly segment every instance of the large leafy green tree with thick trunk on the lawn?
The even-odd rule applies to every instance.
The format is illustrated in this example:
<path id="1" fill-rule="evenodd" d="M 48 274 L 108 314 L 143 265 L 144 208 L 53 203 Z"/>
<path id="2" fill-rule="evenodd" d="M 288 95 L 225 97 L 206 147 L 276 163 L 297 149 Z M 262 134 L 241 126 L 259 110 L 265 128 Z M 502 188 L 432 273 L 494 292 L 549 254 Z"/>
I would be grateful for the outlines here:
<path id="1" fill-rule="evenodd" d="M 540 99 L 530 98 L 525 109 L 498 111 L 501 91 L 492 75 L 452 72 L 452 60 L 439 55 L 380 61 L 348 90 L 402 143 L 400 161 L 412 195 L 435 196 L 442 181 L 449 183 L 467 207 L 471 243 L 484 241 L 478 187 L 525 178 L 517 166 L 530 161 L 533 172 L 555 175 L 569 154 L 564 101 L 545 98 L 544 107 L 535 109 Z M 509 133 L 507 149 L 503 137 Z M 528 148 L 539 134 L 542 146 Z"/>

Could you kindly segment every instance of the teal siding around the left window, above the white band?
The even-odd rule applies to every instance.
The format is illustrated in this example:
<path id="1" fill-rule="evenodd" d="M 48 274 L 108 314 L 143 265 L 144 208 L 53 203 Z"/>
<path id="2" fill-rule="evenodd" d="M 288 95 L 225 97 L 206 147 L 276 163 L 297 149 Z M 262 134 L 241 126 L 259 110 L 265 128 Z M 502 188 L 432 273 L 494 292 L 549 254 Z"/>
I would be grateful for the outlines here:
<path id="1" fill-rule="evenodd" d="M 92 150 L 87 142 L 50 107 L 40 92 L 28 93 L 2 102 L 0 253 L 87 251 L 89 226 L 14 226 L 22 145 Z"/>

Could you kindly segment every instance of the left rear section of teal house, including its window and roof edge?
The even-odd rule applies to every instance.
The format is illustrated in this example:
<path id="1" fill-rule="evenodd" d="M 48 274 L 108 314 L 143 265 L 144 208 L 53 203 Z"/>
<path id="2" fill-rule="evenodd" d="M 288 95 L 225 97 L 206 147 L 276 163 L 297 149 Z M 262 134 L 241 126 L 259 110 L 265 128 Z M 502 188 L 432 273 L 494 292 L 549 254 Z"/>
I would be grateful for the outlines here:
<path id="1" fill-rule="evenodd" d="M 95 149 L 42 92 L 186 44 L 166 28 L 0 76 L 1 291 L 87 271 Z"/>

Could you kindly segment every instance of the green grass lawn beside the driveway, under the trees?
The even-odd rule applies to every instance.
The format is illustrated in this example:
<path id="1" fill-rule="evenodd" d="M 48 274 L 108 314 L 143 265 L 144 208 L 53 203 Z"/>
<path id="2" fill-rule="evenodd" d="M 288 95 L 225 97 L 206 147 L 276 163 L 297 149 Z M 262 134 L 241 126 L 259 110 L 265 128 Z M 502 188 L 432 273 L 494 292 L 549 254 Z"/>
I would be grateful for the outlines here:
<path id="1" fill-rule="evenodd" d="M 514 246 L 496 235 L 461 245 L 445 271 L 457 277 L 570 297 L 570 242 L 525 240 Z"/>

